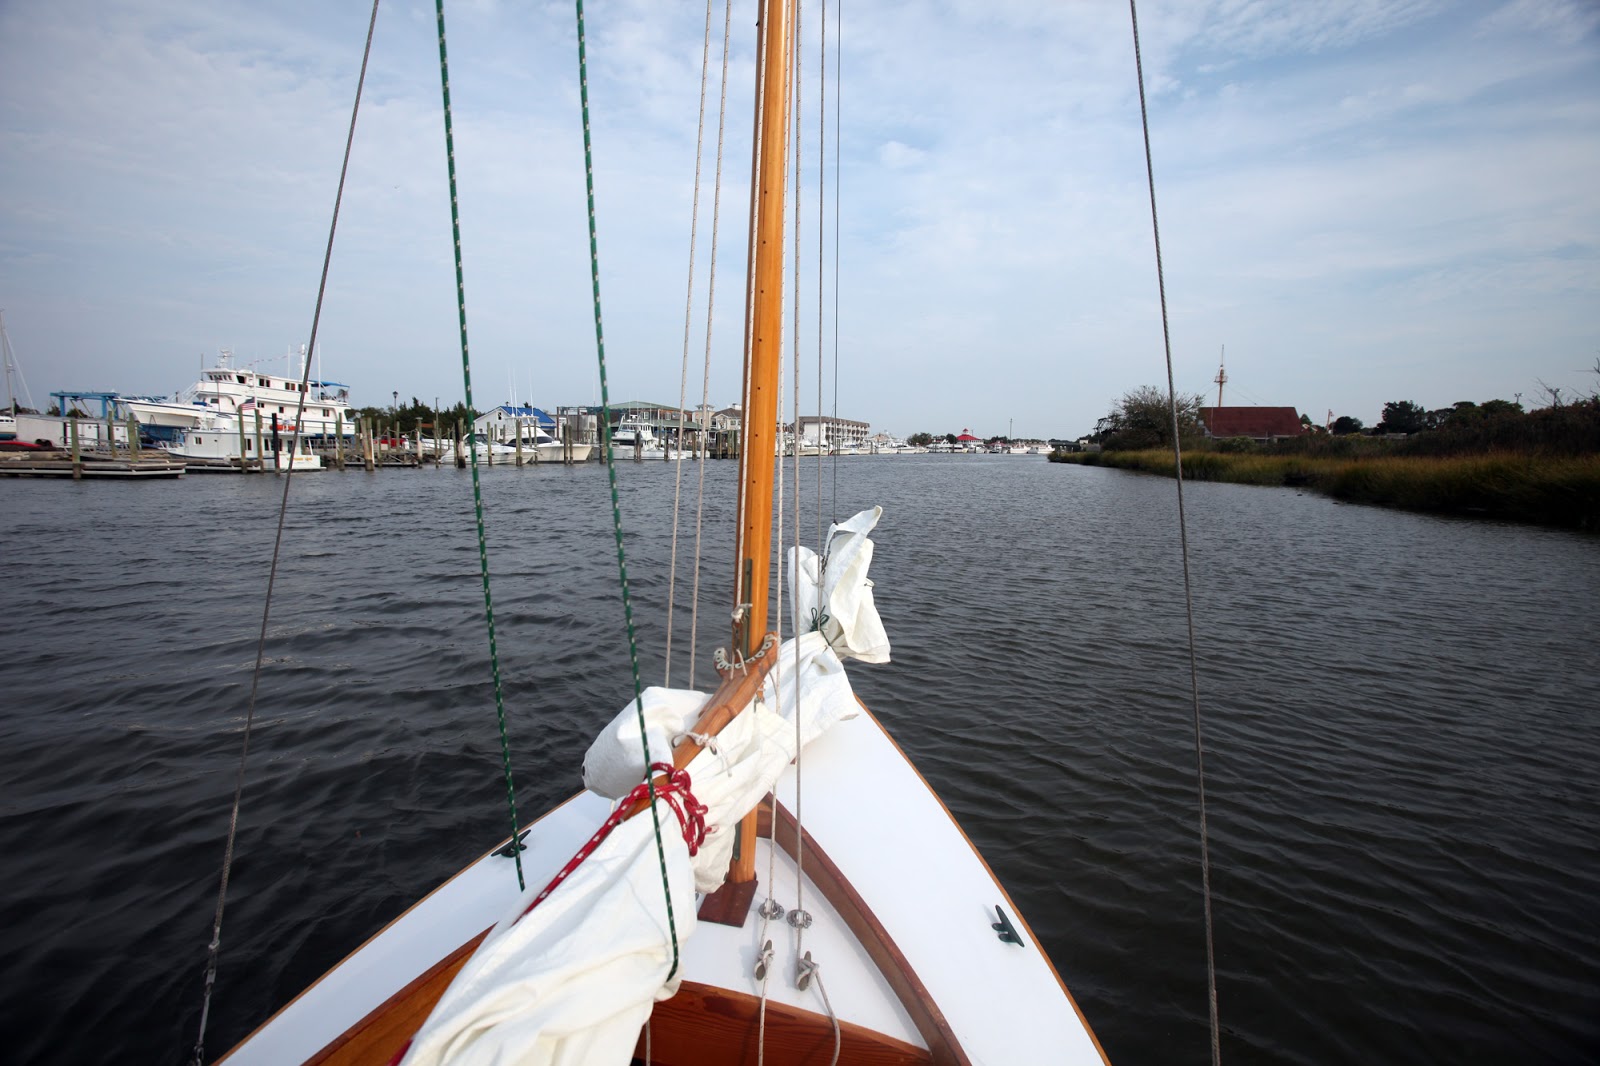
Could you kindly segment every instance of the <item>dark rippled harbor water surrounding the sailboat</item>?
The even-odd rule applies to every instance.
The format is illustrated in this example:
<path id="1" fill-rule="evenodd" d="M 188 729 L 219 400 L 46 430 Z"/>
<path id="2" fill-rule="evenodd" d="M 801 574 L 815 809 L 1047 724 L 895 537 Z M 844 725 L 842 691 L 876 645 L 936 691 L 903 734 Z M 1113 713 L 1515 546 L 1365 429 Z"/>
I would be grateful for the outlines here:
<path id="1" fill-rule="evenodd" d="M 733 464 L 706 480 L 702 687 Z M 619 482 L 659 682 L 674 467 Z M 0 483 L 8 1061 L 178 1061 L 194 1040 L 282 488 Z M 1171 482 L 862 456 L 821 495 L 885 507 L 894 663 L 853 667 L 858 691 L 1112 1061 L 1206 1061 Z M 594 466 L 486 471 L 485 499 L 531 815 L 629 695 L 610 503 Z M 293 480 L 213 1055 L 506 832 L 469 507 L 456 471 Z M 1189 519 L 1224 1056 L 1600 1058 L 1600 541 L 1234 485 L 1192 485 Z"/>

